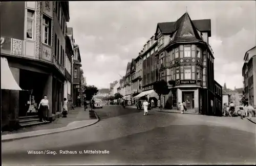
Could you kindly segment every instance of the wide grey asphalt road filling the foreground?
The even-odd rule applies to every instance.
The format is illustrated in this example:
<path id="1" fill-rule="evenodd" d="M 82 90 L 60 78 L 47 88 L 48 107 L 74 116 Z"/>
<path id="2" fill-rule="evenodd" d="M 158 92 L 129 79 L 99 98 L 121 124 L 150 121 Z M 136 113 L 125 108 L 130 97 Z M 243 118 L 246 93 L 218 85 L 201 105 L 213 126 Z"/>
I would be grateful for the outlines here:
<path id="1" fill-rule="evenodd" d="M 154 110 L 143 116 L 142 110 L 121 106 L 96 112 L 101 121 L 86 128 L 2 143 L 2 163 L 255 164 L 255 124 L 248 120 Z M 56 154 L 28 154 L 32 150 Z"/>

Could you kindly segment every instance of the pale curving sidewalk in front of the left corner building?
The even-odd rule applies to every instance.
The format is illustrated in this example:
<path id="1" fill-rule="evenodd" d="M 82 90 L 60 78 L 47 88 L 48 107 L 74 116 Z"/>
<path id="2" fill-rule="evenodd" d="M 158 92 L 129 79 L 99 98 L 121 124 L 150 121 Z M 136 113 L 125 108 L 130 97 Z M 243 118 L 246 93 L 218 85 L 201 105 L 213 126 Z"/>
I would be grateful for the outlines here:
<path id="1" fill-rule="evenodd" d="M 96 119 L 90 118 L 90 109 L 91 108 L 84 111 L 83 107 L 76 107 L 74 110 L 69 110 L 67 118 L 60 117 L 52 123 L 20 128 L 12 132 L 4 131 L 2 133 L 2 142 L 69 131 L 93 125 L 99 121 L 99 118 L 97 115 Z"/>

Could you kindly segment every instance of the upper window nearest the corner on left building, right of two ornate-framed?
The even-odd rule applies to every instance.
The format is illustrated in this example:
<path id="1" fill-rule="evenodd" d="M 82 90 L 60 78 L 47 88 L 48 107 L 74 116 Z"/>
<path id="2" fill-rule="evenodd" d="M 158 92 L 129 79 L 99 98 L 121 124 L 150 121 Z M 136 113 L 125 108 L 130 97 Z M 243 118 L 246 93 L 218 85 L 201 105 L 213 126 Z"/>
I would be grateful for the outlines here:
<path id="1" fill-rule="evenodd" d="M 52 20 L 49 17 L 45 16 L 45 15 L 43 15 L 42 17 L 43 17 L 43 21 L 44 21 L 44 22 L 42 22 L 42 25 L 43 25 L 43 28 L 44 28 L 44 30 L 43 30 L 43 32 L 44 32 L 44 36 L 43 36 L 44 43 L 47 44 L 47 45 L 51 45 Z"/>

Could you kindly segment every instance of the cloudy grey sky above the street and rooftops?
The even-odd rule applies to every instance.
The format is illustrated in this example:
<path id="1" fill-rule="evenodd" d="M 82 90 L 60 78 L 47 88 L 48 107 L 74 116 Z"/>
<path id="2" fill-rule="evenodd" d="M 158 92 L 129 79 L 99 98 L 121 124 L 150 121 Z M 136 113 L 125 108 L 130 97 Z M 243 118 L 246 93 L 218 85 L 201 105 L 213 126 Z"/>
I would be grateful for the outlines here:
<path id="1" fill-rule="evenodd" d="M 87 84 L 109 88 L 121 79 L 157 23 L 176 21 L 186 7 L 191 20 L 211 19 L 215 80 L 230 89 L 242 88 L 243 58 L 256 45 L 254 1 L 70 1 L 68 26 L 79 45 Z"/>

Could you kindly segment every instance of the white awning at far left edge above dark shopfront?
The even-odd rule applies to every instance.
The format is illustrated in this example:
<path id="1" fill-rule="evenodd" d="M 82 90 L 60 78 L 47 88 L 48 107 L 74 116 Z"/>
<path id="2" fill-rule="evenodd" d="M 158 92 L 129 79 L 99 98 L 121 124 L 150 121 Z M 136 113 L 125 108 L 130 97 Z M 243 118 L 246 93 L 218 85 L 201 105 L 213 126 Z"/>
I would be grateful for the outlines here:
<path id="1" fill-rule="evenodd" d="M 1 57 L 1 89 L 22 91 L 14 79 L 6 58 Z"/>

